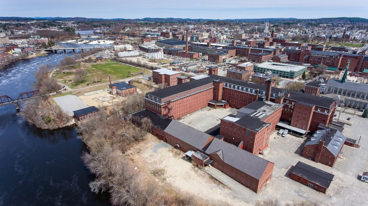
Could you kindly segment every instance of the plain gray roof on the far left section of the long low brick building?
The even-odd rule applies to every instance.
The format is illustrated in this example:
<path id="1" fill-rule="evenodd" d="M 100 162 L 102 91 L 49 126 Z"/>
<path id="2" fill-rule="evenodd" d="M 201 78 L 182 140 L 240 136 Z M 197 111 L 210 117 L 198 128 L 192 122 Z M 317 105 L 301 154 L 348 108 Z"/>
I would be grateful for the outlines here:
<path id="1" fill-rule="evenodd" d="M 196 130 L 193 127 L 189 127 L 177 120 L 172 120 L 164 132 L 200 150 L 206 146 L 206 142 L 211 137 L 210 135 Z"/>

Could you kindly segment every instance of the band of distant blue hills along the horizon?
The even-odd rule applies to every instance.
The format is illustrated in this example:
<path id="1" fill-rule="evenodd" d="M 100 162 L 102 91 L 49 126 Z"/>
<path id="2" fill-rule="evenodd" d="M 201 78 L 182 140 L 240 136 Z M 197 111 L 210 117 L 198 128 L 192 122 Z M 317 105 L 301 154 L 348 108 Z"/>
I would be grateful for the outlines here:
<path id="1" fill-rule="evenodd" d="M 33 21 L 33 20 L 49 20 L 49 21 L 137 21 L 137 22 L 209 22 L 209 21 L 226 21 L 226 22 L 315 22 L 315 23 L 368 23 L 368 19 L 358 17 L 337 17 L 337 18 L 320 18 L 320 19 L 296 19 L 296 18 L 263 18 L 263 19 L 182 19 L 182 18 L 143 18 L 143 19 L 99 19 L 84 17 L 0 17 L 2 21 Z"/>

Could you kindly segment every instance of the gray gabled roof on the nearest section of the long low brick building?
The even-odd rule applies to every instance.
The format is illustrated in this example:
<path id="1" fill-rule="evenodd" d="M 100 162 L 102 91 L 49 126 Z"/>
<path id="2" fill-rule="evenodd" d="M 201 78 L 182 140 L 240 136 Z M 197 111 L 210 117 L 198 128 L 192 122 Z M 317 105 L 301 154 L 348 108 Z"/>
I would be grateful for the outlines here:
<path id="1" fill-rule="evenodd" d="M 212 140 L 205 152 L 208 155 L 217 154 L 226 164 L 257 180 L 261 179 L 268 163 L 272 163 L 217 138 Z"/>

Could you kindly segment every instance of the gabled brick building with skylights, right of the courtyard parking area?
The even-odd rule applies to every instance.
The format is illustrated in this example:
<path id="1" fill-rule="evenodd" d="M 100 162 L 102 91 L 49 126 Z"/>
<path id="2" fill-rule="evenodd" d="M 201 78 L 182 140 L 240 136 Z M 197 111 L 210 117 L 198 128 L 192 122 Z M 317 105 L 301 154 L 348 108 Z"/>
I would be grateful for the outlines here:
<path id="1" fill-rule="evenodd" d="M 335 128 L 317 130 L 303 148 L 303 157 L 333 167 L 346 137 Z"/>

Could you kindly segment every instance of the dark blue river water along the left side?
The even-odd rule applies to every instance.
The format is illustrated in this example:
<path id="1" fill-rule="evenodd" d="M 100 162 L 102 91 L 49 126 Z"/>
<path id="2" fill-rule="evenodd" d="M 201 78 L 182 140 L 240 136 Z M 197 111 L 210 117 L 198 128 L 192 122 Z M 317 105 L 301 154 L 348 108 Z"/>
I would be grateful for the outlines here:
<path id="1" fill-rule="evenodd" d="M 38 65 L 55 65 L 73 55 L 53 53 L 1 69 L 0 95 L 16 99 L 32 90 Z M 0 107 L 0 206 L 110 205 L 106 193 L 90 191 L 94 176 L 80 160 L 85 151 L 75 128 L 37 129 L 17 115 L 14 105 Z"/>

